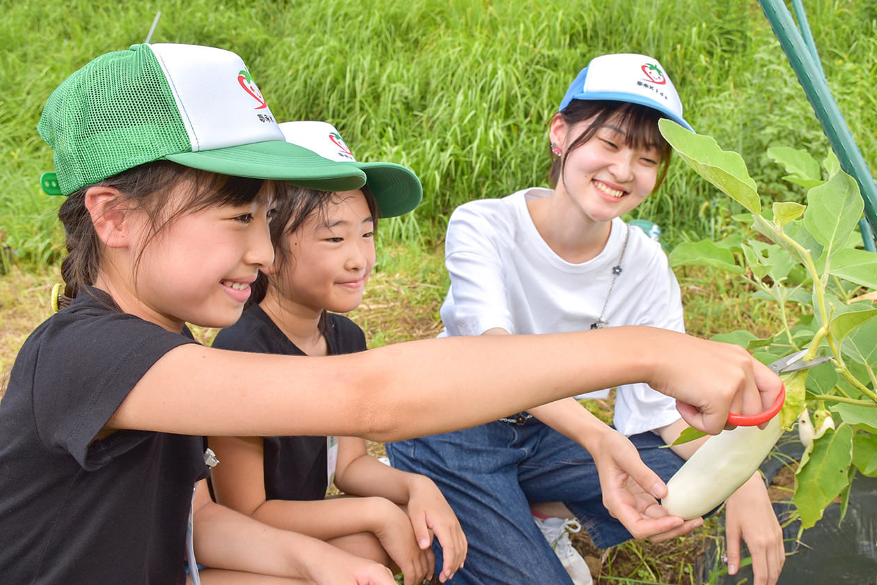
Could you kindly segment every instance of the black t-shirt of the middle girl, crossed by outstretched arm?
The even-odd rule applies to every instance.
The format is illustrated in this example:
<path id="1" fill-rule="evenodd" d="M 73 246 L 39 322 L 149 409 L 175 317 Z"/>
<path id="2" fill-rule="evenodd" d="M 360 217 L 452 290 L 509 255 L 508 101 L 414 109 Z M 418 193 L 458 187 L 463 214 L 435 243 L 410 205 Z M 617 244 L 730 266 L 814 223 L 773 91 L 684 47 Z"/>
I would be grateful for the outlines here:
<path id="1" fill-rule="evenodd" d="M 366 336 L 347 317 L 326 315 L 330 355 L 366 349 Z M 258 304 L 217 333 L 213 346 L 253 353 L 304 355 Z M 269 500 L 322 500 L 326 491 L 325 437 L 265 437 L 265 496 Z M 222 460 L 222 453 L 217 453 Z M 221 465 L 221 463 L 220 463 Z"/>

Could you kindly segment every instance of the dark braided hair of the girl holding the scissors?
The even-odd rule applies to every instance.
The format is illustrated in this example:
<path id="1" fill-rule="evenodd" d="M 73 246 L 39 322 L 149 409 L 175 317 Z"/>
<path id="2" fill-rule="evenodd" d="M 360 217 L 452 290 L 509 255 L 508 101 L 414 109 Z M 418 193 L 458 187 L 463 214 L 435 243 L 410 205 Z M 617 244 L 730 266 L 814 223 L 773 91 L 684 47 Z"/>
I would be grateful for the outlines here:
<path id="1" fill-rule="evenodd" d="M 168 214 L 168 202 L 177 185 L 189 182 L 188 199 Z M 95 185 L 109 186 L 122 194 L 118 203 L 132 203 L 144 210 L 152 224 L 149 241 L 185 213 L 203 210 L 211 205 L 242 205 L 252 203 L 260 195 L 265 181 L 230 175 L 217 175 L 175 162 L 154 161 L 113 175 Z M 58 218 L 67 234 L 67 257 L 61 262 L 61 276 L 66 287 L 64 296 L 72 299 L 83 286 L 95 283 L 101 263 L 101 242 L 97 238 L 91 215 L 85 206 L 90 187 L 76 190 L 61 203 Z M 117 203 L 117 204 L 118 204 Z M 139 250 L 139 260 L 143 249 Z M 136 270 L 136 267 L 135 267 Z"/>

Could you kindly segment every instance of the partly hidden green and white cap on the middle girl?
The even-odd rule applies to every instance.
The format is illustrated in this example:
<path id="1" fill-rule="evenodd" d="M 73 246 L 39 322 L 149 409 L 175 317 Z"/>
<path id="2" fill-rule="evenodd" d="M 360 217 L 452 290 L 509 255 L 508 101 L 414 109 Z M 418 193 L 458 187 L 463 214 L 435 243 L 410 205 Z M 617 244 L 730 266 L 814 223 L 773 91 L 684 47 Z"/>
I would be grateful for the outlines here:
<path id="1" fill-rule="evenodd" d="M 341 134 L 328 122 L 282 122 L 280 129 L 292 144 L 303 146 L 336 164 L 353 165 L 365 171 L 366 184 L 374 194 L 381 218 L 408 213 L 423 198 L 424 189 L 410 168 L 392 162 L 357 162 Z"/>

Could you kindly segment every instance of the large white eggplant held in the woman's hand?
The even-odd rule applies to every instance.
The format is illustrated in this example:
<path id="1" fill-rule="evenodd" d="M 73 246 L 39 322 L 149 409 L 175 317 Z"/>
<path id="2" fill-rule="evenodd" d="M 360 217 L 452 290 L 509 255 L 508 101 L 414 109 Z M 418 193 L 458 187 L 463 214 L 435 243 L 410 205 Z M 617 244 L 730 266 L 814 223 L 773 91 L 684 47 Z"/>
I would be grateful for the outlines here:
<path id="1" fill-rule="evenodd" d="M 738 426 L 710 437 L 667 482 L 661 505 L 685 519 L 703 516 L 752 477 L 781 434 L 777 416 L 764 431 Z"/>

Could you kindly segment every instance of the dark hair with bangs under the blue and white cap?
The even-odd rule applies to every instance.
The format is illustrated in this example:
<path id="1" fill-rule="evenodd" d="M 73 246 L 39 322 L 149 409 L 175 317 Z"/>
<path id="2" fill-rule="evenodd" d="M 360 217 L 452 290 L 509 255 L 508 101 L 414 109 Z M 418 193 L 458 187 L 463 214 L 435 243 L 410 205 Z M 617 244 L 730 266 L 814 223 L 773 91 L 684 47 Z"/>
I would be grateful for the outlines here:
<path id="1" fill-rule="evenodd" d="M 548 174 L 548 181 L 552 187 L 557 187 L 558 182 L 560 182 L 560 173 L 567 163 L 569 153 L 594 138 L 597 130 L 611 118 L 614 118 L 617 124 L 624 129 L 626 144 L 634 148 L 645 147 L 658 150 L 660 169 L 652 190 L 657 190 L 664 182 L 664 177 L 667 176 L 667 167 L 670 164 L 670 153 L 673 150 L 658 130 L 658 120 L 664 118 L 659 111 L 638 103 L 573 100 L 558 115 L 570 126 L 585 120 L 591 120 L 591 123 L 574 139 L 562 156 L 556 157 L 552 161 L 551 171 Z"/>

